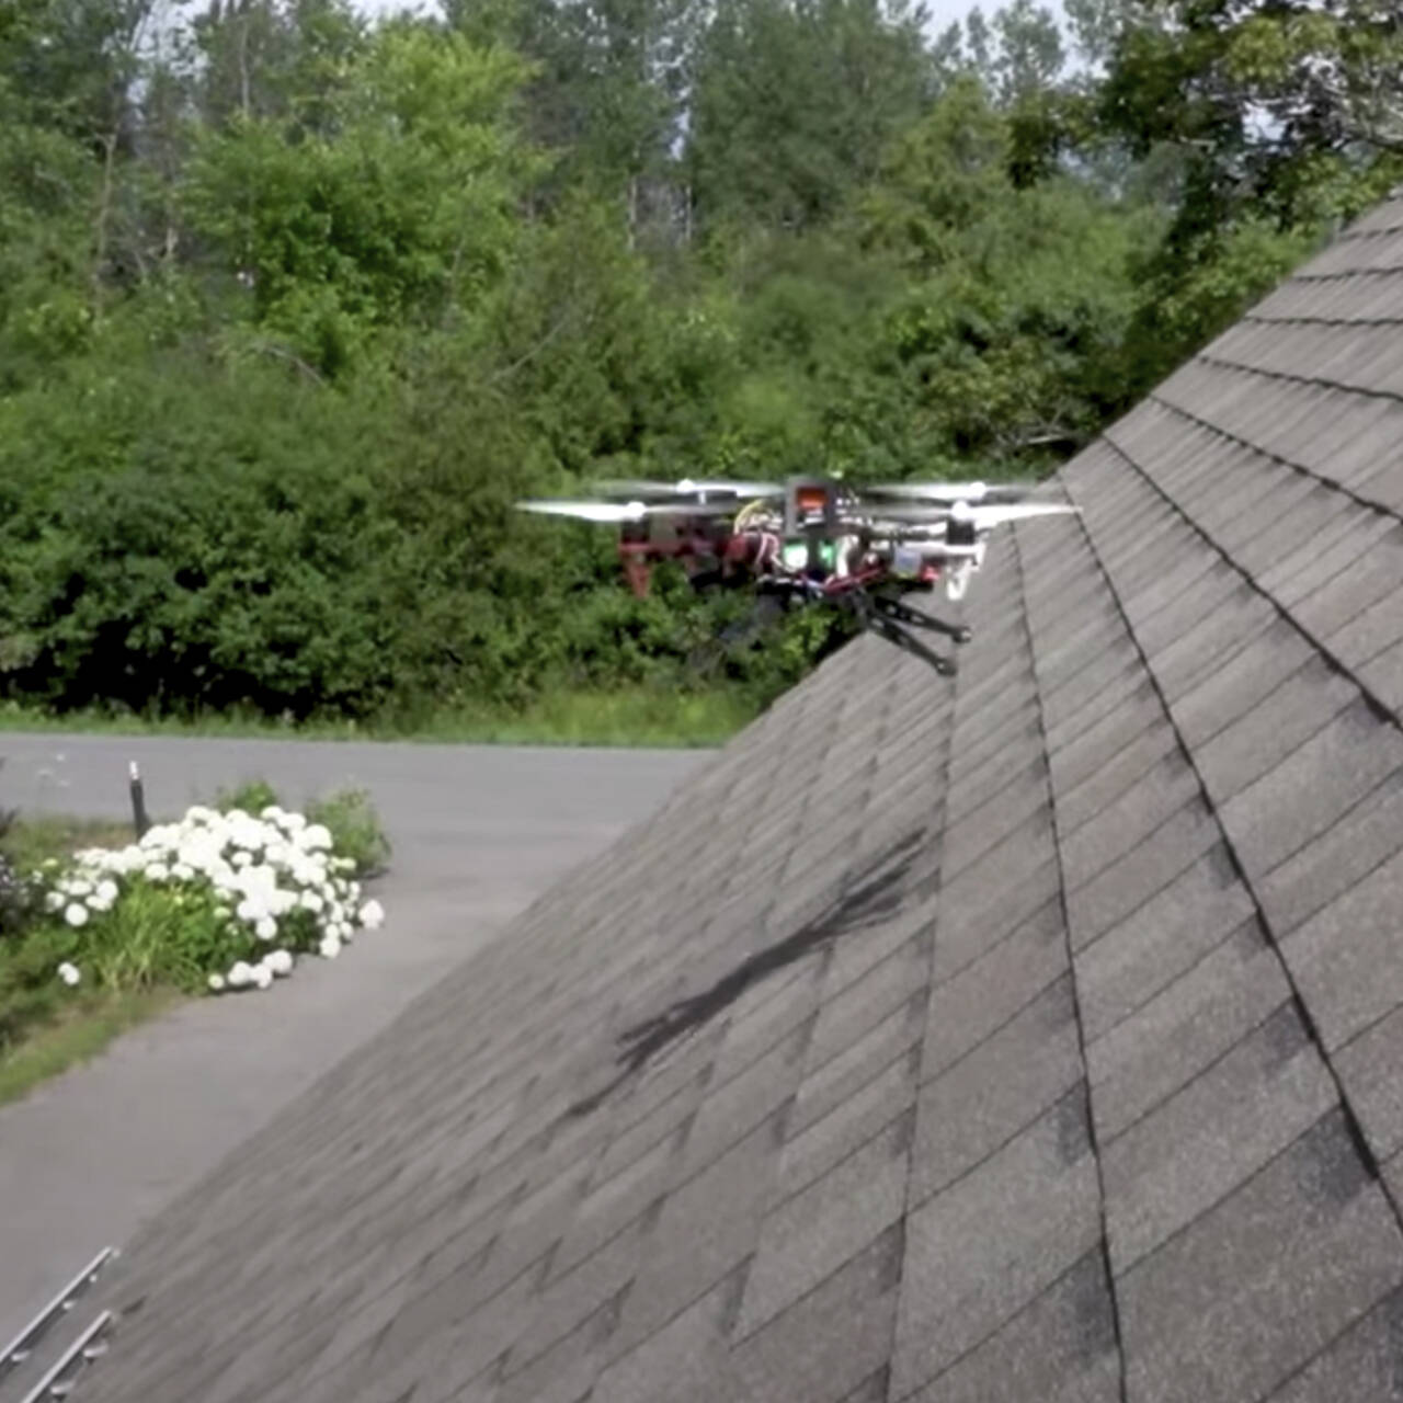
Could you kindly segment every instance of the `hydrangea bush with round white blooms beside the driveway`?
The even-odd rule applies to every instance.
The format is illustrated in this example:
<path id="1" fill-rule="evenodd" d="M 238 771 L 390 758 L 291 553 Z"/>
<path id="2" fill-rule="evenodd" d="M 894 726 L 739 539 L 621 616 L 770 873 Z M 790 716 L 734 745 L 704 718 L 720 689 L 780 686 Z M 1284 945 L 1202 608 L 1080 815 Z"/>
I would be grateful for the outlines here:
<path id="1" fill-rule="evenodd" d="M 41 873 L 46 937 L 29 944 L 70 988 L 267 989 L 296 955 L 334 960 L 380 925 L 355 873 L 330 829 L 302 814 L 196 805 L 126 847 L 51 863 Z"/>

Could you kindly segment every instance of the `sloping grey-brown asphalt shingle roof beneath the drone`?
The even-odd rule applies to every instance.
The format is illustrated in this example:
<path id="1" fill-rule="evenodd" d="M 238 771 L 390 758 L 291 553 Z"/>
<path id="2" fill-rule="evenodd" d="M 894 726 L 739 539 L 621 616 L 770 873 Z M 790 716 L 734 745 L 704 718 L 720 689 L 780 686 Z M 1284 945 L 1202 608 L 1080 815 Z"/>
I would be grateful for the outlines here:
<path id="1" fill-rule="evenodd" d="M 111 1403 L 1403 1399 L 1403 201 L 132 1244 Z"/>

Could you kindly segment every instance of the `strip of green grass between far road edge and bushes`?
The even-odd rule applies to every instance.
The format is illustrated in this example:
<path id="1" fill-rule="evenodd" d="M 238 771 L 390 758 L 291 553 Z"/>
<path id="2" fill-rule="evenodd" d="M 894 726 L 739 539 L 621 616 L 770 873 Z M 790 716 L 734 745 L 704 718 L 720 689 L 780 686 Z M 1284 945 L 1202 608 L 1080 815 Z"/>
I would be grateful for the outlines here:
<path id="1" fill-rule="evenodd" d="M 749 697 L 725 690 L 560 692 L 523 709 L 464 704 L 377 721 L 293 724 L 253 713 L 195 720 L 72 711 L 53 716 L 0 703 L 0 731 L 88 731 L 109 735 L 247 737 L 307 741 L 419 741 L 471 745 L 591 745 L 687 748 L 723 745 L 759 714 Z"/>

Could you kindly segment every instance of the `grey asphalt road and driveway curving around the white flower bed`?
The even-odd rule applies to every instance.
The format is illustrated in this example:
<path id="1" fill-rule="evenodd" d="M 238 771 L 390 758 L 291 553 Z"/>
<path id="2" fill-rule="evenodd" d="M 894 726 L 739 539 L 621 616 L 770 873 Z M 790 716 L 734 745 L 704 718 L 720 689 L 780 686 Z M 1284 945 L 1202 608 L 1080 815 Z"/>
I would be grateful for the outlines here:
<path id="1" fill-rule="evenodd" d="M 394 843 L 384 926 L 267 993 L 201 999 L 0 1108 L 0 1347 L 556 878 L 645 818 L 704 751 L 0 735 L 0 807 L 153 818 L 268 779 L 285 805 L 368 788 Z"/>

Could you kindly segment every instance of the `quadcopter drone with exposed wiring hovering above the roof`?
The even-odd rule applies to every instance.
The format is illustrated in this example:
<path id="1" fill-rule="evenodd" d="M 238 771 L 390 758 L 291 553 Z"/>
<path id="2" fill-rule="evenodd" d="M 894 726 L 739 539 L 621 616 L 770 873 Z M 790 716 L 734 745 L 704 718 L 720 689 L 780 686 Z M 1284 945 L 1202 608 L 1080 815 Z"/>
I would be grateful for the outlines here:
<path id="1" fill-rule="evenodd" d="M 836 478 L 784 483 L 610 481 L 591 501 L 523 501 L 522 511 L 619 528 L 624 578 L 647 595 L 657 561 L 676 560 L 697 589 L 752 586 L 762 598 L 852 609 L 863 627 L 929 662 L 955 669 L 911 630 L 957 644 L 967 624 L 936 619 L 901 598 L 944 586 L 964 599 L 984 565 L 992 532 L 1012 521 L 1075 512 L 1028 502 L 1023 487 L 985 483 L 899 483 L 854 488 Z"/>

